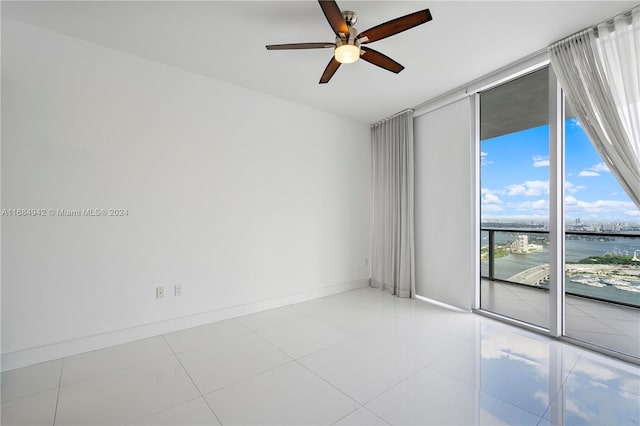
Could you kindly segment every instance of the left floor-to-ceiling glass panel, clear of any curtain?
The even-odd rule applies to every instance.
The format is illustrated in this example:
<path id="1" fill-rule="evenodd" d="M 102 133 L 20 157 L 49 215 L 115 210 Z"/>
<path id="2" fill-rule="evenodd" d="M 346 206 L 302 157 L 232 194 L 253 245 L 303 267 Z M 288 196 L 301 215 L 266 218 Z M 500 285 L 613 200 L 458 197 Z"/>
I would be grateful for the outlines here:
<path id="1" fill-rule="evenodd" d="M 549 328 L 549 70 L 480 94 L 483 310 Z"/>

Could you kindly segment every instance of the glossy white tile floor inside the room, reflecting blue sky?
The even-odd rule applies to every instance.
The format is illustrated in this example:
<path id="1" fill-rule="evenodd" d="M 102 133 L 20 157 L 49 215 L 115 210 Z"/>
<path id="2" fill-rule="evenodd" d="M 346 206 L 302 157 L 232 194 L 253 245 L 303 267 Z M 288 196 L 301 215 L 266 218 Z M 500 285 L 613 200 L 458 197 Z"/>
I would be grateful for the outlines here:
<path id="1" fill-rule="evenodd" d="M 640 369 L 363 288 L 2 373 L 2 424 L 640 423 Z"/>

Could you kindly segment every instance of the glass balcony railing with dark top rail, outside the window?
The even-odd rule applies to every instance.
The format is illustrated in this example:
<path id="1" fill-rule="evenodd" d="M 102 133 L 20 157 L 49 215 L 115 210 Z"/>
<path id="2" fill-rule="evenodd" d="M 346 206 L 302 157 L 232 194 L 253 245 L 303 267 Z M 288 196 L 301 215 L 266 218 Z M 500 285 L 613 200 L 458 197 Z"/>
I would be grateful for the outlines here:
<path id="1" fill-rule="evenodd" d="M 549 233 L 482 228 L 481 276 L 549 289 Z M 640 235 L 565 232 L 565 292 L 640 307 Z"/>

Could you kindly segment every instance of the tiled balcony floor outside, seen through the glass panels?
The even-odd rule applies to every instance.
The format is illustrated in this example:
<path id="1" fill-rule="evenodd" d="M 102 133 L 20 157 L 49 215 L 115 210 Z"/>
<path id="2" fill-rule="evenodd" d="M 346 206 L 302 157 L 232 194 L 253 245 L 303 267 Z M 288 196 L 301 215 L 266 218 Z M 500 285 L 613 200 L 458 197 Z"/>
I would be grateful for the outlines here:
<path id="1" fill-rule="evenodd" d="M 482 280 L 482 309 L 549 328 L 549 292 Z M 640 309 L 566 296 L 565 334 L 640 358 Z"/>

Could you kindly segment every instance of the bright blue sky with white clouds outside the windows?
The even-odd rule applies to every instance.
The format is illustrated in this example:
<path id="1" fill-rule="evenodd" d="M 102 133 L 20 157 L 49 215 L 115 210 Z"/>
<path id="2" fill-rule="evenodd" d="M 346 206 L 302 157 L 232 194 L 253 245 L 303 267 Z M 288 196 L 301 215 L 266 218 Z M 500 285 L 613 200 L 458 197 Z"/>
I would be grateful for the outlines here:
<path id="1" fill-rule="evenodd" d="M 482 221 L 547 220 L 549 126 L 481 142 Z M 565 123 L 565 219 L 640 222 L 640 210 L 602 162 L 576 118 Z"/>

